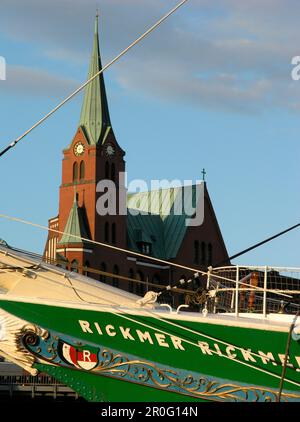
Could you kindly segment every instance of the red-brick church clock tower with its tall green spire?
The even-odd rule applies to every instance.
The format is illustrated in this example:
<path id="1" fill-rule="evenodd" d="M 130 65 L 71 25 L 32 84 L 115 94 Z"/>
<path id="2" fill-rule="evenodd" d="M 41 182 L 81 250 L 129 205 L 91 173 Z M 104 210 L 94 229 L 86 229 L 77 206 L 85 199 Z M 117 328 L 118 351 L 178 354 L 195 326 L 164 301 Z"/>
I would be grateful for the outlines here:
<path id="1" fill-rule="evenodd" d="M 88 78 L 101 69 L 97 15 Z M 118 210 L 119 193 L 125 192 L 124 182 L 119 181 L 119 173 L 125 172 L 125 152 L 113 132 L 102 73 L 85 88 L 79 126 L 63 155 L 59 215 L 49 221 L 49 228 L 65 234 L 49 232 L 46 259 L 55 261 L 59 257 L 73 270 L 101 268 L 111 252 L 80 237 L 126 247 L 126 216 L 119 215 Z M 97 184 L 104 180 L 114 184 L 117 198 L 116 212 L 109 215 L 97 212 L 97 201 L 106 193 L 99 191 Z"/>

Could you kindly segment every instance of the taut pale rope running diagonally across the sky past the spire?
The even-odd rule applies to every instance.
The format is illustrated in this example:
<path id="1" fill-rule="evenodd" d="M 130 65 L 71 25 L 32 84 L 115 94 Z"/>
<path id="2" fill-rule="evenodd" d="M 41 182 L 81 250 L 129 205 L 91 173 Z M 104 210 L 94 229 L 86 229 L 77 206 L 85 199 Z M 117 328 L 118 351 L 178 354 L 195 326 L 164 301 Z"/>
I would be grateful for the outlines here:
<path id="1" fill-rule="evenodd" d="M 122 56 L 124 56 L 131 48 L 133 48 L 136 44 L 146 38 L 151 32 L 153 32 L 158 26 L 160 26 L 169 16 L 171 16 L 177 9 L 183 6 L 188 0 L 183 0 L 177 6 L 175 6 L 172 10 L 170 10 L 166 15 L 164 15 L 159 21 L 157 21 L 151 28 L 149 28 L 146 32 L 144 32 L 139 38 L 137 38 L 132 44 L 130 44 L 127 48 L 125 48 L 120 54 L 118 54 L 113 60 L 111 60 L 107 65 L 105 65 L 99 72 L 95 73 L 90 79 L 88 79 L 84 84 L 82 84 L 79 88 L 77 88 L 72 94 L 66 97 L 62 102 L 60 102 L 56 107 L 54 107 L 49 113 L 47 113 L 44 117 L 42 117 L 37 123 L 31 126 L 30 129 L 26 130 L 21 136 L 15 139 L 11 144 L 9 144 L 4 150 L 0 152 L 0 157 L 8 152 L 11 148 L 15 147 L 21 139 L 25 138 L 30 132 L 32 132 L 35 128 L 40 126 L 45 120 L 47 120 L 52 114 L 58 111 L 63 105 L 65 105 L 68 101 L 70 101 L 75 95 L 77 95 L 80 91 L 83 90 L 90 82 L 96 79 L 101 73 L 103 73 L 106 69 L 112 66 L 116 61 L 118 61 Z"/>

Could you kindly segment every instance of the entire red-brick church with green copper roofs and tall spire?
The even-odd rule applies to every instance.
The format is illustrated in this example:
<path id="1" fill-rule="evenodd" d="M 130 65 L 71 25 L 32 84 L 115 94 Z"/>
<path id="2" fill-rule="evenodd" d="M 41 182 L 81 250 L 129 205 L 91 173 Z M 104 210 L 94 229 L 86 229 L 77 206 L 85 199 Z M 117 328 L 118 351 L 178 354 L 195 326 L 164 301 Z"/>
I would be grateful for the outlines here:
<path id="1" fill-rule="evenodd" d="M 97 16 L 88 78 L 101 69 Z M 126 193 L 119 177 L 126 171 L 124 157 L 112 127 L 101 73 L 85 88 L 77 131 L 63 150 L 59 211 L 49 220 L 45 260 L 138 295 L 144 295 L 152 284 L 174 284 L 192 276 L 172 262 L 201 270 L 220 262 L 229 264 L 206 182 L 204 220 L 189 225 L 184 212 L 176 212 L 176 204 L 182 190 L 189 191 L 194 201 L 196 186 Z M 97 201 L 105 195 L 97 189 L 101 181 L 114 183 L 116 196 L 121 198 L 116 213 L 97 212 Z M 124 207 L 128 212 L 120 212 Z"/>

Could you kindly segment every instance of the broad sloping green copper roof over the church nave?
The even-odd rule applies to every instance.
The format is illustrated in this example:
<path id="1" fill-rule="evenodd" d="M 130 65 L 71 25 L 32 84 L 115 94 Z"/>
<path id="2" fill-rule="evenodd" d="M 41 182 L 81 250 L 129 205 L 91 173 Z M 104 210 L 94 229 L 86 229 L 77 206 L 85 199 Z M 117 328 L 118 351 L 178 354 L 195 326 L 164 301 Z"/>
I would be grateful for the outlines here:
<path id="1" fill-rule="evenodd" d="M 149 243 L 152 256 L 175 258 L 188 227 L 186 219 L 195 206 L 196 185 L 128 194 L 129 248 L 139 251 L 139 242 Z"/>

